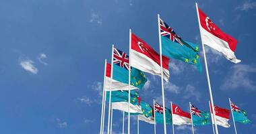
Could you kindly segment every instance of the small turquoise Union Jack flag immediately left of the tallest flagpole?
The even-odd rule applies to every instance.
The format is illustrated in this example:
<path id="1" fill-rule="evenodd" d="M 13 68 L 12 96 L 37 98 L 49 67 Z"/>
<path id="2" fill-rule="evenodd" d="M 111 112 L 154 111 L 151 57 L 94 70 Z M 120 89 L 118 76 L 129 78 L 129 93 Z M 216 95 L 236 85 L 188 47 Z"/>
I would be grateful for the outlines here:
<path id="1" fill-rule="evenodd" d="M 195 126 L 204 126 L 204 125 L 210 125 L 211 124 L 210 113 L 200 111 L 194 105 L 191 105 L 190 109 L 191 109 L 193 125 L 195 125 Z"/>

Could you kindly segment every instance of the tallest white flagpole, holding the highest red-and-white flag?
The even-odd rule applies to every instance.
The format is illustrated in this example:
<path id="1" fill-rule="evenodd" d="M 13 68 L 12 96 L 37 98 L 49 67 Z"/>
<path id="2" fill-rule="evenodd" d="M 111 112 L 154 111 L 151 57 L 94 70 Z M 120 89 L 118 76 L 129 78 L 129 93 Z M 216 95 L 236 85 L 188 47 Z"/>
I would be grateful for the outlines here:
<path id="1" fill-rule="evenodd" d="M 199 19 L 199 12 L 198 12 L 197 3 L 195 3 L 195 6 L 197 7 L 197 19 L 198 19 L 198 24 L 199 24 L 200 36 L 201 36 L 200 19 Z M 207 60 L 206 60 L 206 55 L 205 55 L 205 50 L 204 50 L 202 36 L 201 36 L 201 43 L 202 43 L 202 48 L 203 48 L 203 58 L 204 58 L 204 63 L 205 63 L 207 83 L 208 83 L 209 93 L 210 93 L 210 100 L 211 100 L 211 104 L 210 105 L 211 105 L 211 107 L 213 109 L 212 113 L 213 113 L 213 117 L 214 117 L 215 131 L 216 131 L 216 134 L 218 134 L 218 127 L 217 127 L 217 124 L 216 124 L 216 117 L 215 117 L 215 110 L 214 110 L 214 98 L 212 97 L 212 88 L 211 88 L 210 76 L 209 76 L 209 72 L 208 72 L 208 66 L 207 66 Z"/>

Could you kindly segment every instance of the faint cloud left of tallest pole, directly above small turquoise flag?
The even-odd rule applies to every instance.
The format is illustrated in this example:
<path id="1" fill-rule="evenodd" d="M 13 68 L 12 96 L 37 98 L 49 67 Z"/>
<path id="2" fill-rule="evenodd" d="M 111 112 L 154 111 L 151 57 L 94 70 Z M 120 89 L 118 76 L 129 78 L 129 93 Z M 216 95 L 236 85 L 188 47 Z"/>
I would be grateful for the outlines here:
<path id="1" fill-rule="evenodd" d="M 188 84 L 186 86 L 184 94 L 185 95 L 183 96 L 183 98 L 195 98 L 197 101 L 199 101 L 201 97 L 201 93 L 198 90 L 196 90 L 196 88 L 191 84 Z"/>

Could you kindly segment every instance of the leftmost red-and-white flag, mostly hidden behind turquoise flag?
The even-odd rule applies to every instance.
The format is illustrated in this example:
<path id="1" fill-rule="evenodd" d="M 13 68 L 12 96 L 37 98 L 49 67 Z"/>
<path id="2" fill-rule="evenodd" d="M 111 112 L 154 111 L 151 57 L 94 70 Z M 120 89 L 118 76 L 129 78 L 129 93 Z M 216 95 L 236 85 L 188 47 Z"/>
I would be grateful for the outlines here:
<path id="1" fill-rule="evenodd" d="M 110 91 L 110 78 L 111 76 L 111 64 L 106 63 L 106 76 L 105 76 L 105 90 Z M 112 91 L 113 90 L 129 90 L 129 84 L 119 82 L 118 80 L 112 79 Z M 131 85 L 131 90 L 137 89 L 137 87 Z"/>

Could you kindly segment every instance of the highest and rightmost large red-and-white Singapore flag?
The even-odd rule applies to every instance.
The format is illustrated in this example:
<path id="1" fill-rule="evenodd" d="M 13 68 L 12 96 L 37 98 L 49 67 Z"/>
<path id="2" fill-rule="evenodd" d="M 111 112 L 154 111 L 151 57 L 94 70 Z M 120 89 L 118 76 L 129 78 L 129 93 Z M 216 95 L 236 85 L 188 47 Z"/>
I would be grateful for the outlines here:
<path id="1" fill-rule="evenodd" d="M 224 33 L 201 9 L 198 8 L 197 10 L 202 43 L 222 53 L 231 62 L 241 62 L 234 55 L 237 44 L 236 39 Z"/>

